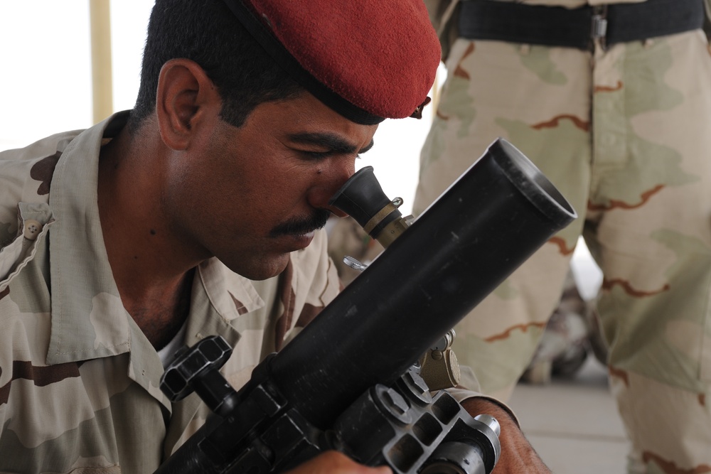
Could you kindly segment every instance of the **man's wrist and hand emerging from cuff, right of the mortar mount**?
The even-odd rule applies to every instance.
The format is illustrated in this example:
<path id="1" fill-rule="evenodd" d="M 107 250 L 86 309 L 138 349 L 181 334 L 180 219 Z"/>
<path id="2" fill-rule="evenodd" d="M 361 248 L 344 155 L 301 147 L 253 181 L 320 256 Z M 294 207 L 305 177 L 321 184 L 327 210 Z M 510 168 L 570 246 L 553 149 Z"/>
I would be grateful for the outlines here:
<path id="1" fill-rule="evenodd" d="M 493 474 L 550 474 L 550 469 L 540 460 L 508 411 L 483 398 L 466 399 L 461 402 L 461 406 L 464 406 L 471 416 L 491 415 L 501 426 L 501 435 L 498 437 L 501 441 L 501 456 Z"/>

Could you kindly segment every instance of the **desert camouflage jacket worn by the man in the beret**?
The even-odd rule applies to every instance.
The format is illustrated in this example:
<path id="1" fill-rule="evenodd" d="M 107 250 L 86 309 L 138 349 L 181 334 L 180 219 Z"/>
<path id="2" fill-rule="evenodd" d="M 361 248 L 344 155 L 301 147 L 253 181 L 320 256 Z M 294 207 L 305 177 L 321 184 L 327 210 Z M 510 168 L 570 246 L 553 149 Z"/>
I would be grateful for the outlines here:
<path id="1" fill-rule="evenodd" d="M 151 473 L 206 416 L 195 394 L 171 404 L 159 390 L 161 361 L 107 262 L 97 163 L 126 119 L 0 153 L 1 473 Z M 222 335 L 241 387 L 338 293 L 325 240 L 267 281 L 201 264 L 185 343 Z"/>

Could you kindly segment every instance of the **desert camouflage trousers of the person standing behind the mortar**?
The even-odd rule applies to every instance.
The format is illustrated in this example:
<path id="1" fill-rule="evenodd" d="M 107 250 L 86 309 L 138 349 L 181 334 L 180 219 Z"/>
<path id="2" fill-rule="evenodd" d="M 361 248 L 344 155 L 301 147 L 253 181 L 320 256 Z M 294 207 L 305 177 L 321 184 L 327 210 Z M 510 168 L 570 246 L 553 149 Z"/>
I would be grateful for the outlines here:
<path id="1" fill-rule="evenodd" d="M 711 54 L 702 32 L 597 48 L 454 43 L 421 158 L 421 212 L 497 136 L 579 214 L 456 328 L 482 392 L 508 397 L 582 235 L 631 438 L 630 472 L 711 473 Z M 584 408 L 582 408 L 584 409 Z"/>

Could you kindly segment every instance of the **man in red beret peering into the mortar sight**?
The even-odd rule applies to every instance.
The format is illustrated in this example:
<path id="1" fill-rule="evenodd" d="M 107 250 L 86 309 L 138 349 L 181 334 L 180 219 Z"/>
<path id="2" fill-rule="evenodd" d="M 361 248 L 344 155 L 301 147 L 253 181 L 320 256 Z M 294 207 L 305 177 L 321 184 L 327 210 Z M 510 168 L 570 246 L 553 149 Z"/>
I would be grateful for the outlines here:
<path id="1" fill-rule="evenodd" d="M 426 101 L 440 50 L 419 2 L 326 6 L 159 0 L 131 112 L 0 153 L 0 472 L 154 472 L 207 414 L 159 389 L 176 348 L 222 335 L 239 389 L 336 296 L 328 199 Z M 501 472 L 547 472 L 504 407 L 464 403 L 501 421 Z M 324 453 L 294 474 L 388 471 Z"/>

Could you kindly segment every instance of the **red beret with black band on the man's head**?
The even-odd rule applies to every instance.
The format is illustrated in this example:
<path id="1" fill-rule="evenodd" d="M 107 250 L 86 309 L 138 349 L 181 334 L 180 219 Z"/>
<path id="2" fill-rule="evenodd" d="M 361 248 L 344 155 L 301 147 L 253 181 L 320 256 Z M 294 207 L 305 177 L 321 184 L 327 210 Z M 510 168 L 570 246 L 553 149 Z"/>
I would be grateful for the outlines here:
<path id="1" fill-rule="evenodd" d="M 225 0 L 296 82 L 361 124 L 417 116 L 441 52 L 422 0 Z"/>

